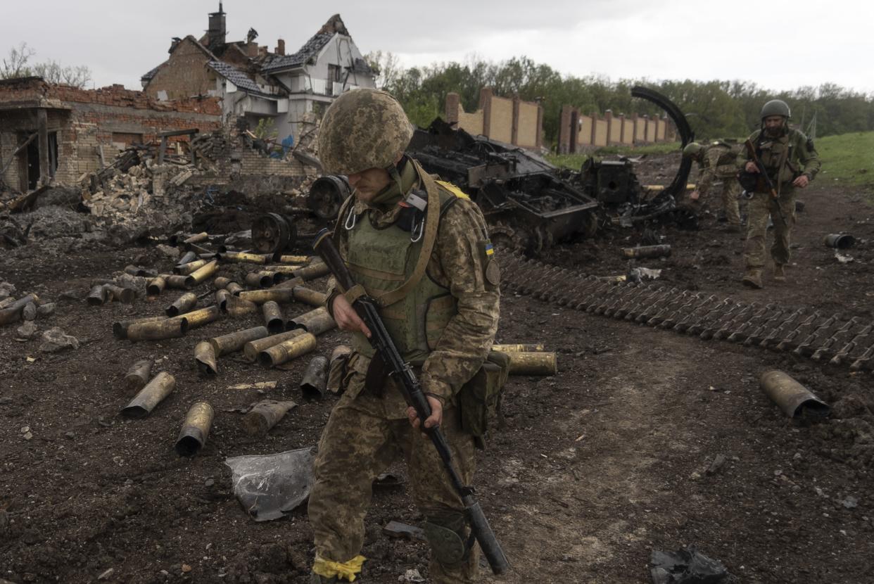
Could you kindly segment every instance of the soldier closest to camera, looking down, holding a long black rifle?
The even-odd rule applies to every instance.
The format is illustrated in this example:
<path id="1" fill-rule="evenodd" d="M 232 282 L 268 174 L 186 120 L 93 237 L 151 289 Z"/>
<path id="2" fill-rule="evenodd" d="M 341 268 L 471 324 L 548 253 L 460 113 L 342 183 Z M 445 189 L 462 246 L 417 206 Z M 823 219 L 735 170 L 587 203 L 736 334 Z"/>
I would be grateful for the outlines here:
<path id="1" fill-rule="evenodd" d="M 417 428 L 440 426 L 469 484 L 477 431 L 461 427 L 458 398 L 494 341 L 499 272 L 479 208 L 404 155 L 412 136 L 391 95 L 355 89 L 328 108 L 318 137 L 325 172 L 347 175 L 355 189 L 338 215 L 337 247 L 353 280 L 377 299 L 432 414 L 422 422 L 407 407 L 385 364 L 373 358 L 371 331 L 332 279 L 327 305 L 337 325 L 352 332 L 354 352 L 319 442 L 309 496 L 314 584 L 360 574 L 371 483 L 398 455 L 406 459 L 413 500 L 425 517 L 431 581 L 471 582 L 476 574 L 478 553 L 468 541 L 461 498 Z M 433 212 L 439 223 L 431 227 Z"/>

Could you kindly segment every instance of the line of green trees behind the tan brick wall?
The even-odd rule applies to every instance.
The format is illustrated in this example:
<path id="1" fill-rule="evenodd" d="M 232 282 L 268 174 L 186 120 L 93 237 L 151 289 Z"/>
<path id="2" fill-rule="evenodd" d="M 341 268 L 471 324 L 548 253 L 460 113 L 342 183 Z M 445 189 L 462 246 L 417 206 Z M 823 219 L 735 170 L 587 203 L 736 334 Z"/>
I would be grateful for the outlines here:
<path id="1" fill-rule="evenodd" d="M 545 144 L 558 141 L 561 108 L 571 105 L 584 114 L 662 115 L 649 101 L 631 97 L 631 88 L 642 85 L 668 96 L 683 111 L 699 139 L 747 136 L 759 127 L 762 105 L 781 99 L 792 109 L 792 122 L 807 131 L 815 120 L 815 135 L 846 134 L 874 130 L 874 95 L 825 83 L 791 91 L 774 92 L 739 80 L 610 80 L 589 75 L 563 75 L 551 66 L 516 57 L 499 63 L 481 59 L 435 63 L 430 66 L 399 66 L 392 53 L 371 52 L 366 57 L 378 71 L 378 87 L 395 95 L 410 120 L 420 127 L 443 115 L 446 95 L 461 96 L 461 105 L 473 112 L 479 105 L 480 88 L 492 87 L 496 95 L 517 94 L 525 101 L 538 101 L 544 108 Z"/>

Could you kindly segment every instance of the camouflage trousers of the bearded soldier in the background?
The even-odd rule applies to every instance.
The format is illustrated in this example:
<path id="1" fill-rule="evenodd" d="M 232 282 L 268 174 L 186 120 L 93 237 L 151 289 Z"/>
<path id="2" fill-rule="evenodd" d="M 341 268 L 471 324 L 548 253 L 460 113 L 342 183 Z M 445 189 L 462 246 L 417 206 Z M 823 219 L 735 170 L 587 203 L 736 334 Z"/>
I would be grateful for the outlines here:
<path id="1" fill-rule="evenodd" d="M 795 190 L 791 186 L 782 187 L 780 192 L 780 211 L 786 218 L 786 225 L 777 213 L 777 201 L 766 192 L 753 193 L 753 198 L 746 205 L 746 245 L 744 246 L 744 261 L 747 269 L 765 267 L 767 236 L 767 220 L 773 222 L 773 245 L 771 257 L 775 264 L 787 264 L 791 258 L 789 244 L 792 228 L 795 225 Z"/>

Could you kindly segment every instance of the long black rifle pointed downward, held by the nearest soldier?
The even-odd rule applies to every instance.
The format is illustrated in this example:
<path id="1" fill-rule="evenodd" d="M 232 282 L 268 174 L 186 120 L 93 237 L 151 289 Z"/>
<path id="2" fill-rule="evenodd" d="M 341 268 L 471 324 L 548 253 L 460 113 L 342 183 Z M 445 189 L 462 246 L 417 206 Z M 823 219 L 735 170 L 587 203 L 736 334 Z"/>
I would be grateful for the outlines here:
<path id="1" fill-rule="evenodd" d="M 323 229 L 316 234 L 313 249 L 322 256 L 325 265 L 328 266 L 331 275 L 334 276 L 337 284 L 343 291 L 355 287 L 355 282 L 352 280 L 349 268 L 346 268 L 346 264 L 340 256 L 340 252 L 336 248 L 331 232 L 328 229 Z M 390 372 L 389 374 L 398 382 L 407 405 L 412 406 L 416 410 L 420 421 L 426 421 L 431 415 L 431 406 L 428 404 L 425 393 L 422 392 L 419 379 L 416 379 L 416 376 L 413 375 L 413 368 L 401 357 L 398 348 L 394 346 L 392 337 L 388 334 L 388 330 L 385 330 L 385 324 L 377 312 L 376 302 L 366 295 L 361 295 L 352 302 L 352 308 L 355 309 L 358 316 L 361 316 L 361 320 L 364 321 L 367 328 L 371 330 L 369 340 L 377 351 L 377 355 L 374 358 L 382 358 Z M 434 448 L 437 448 L 437 454 L 440 455 L 440 459 L 443 461 L 443 467 L 446 469 L 449 479 L 461 497 L 461 503 L 464 504 L 471 535 L 479 542 L 482 554 L 486 557 L 486 560 L 489 560 L 492 572 L 495 574 L 505 573 L 510 568 L 510 562 L 507 560 L 507 556 L 504 555 L 501 544 L 498 543 L 495 537 L 495 532 L 492 532 L 489 521 L 482 512 L 482 507 L 480 507 L 480 504 L 474 498 L 474 488 L 461 483 L 461 476 L 458 475 L 458 471 L 455 470 L 453 465 L 452 452 L 449 450 L 446 437 L 440 432 L 440 427 L 425 428 L 423 423 L 421 428 L 431 441 L 434 442 Z"/>

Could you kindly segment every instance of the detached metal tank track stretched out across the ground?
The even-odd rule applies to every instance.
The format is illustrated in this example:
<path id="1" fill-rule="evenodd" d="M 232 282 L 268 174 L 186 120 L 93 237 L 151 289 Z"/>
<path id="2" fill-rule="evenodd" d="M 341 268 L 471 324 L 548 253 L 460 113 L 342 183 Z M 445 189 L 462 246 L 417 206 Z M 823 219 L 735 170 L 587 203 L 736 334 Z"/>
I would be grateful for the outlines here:
<path id="1" fill-rule="evenodd" d="M 502 288 L 566 308 L 674 330 L 704 340 L 787 351 L 819 363 L 874 366 L 874 320 L 778 303 L 734 302 L 656 283 L 627 283 L 582 275 L 521 254 L 503 254 Z"/>

